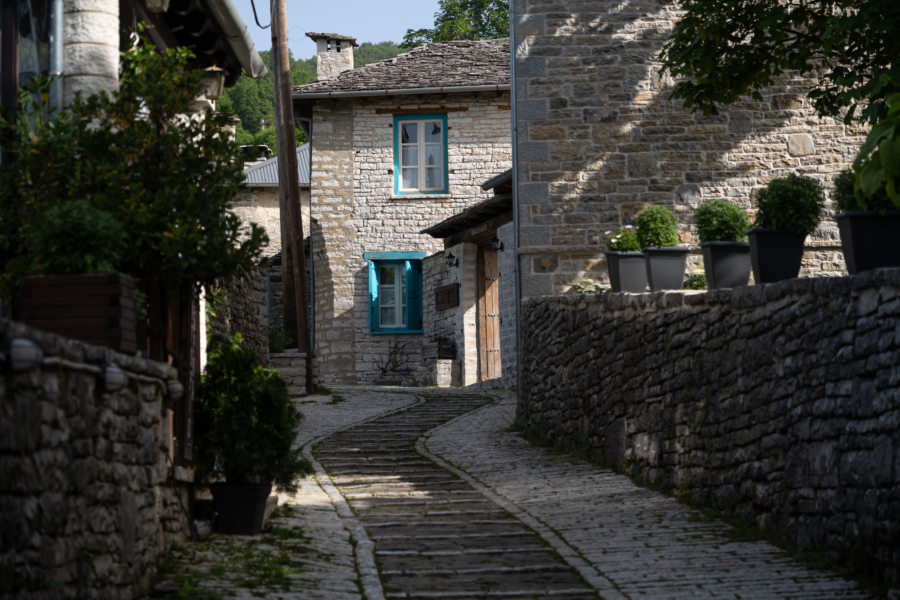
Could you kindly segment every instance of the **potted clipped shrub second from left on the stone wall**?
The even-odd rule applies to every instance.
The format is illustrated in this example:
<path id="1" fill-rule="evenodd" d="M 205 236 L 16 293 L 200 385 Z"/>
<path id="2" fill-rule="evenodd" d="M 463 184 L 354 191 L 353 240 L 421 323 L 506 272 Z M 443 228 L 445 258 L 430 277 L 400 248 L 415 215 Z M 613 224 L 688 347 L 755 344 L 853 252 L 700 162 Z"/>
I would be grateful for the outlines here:
<path id="1" fill-rule="evenodd" d="M 678 246 L 678 223 L 665 206 L 648 206 L 637 217 L 637 236 L 644 252 L 647 281 L 650 289 L 680 290 L 684 283 L 687 254 L 685 246 Z"/>

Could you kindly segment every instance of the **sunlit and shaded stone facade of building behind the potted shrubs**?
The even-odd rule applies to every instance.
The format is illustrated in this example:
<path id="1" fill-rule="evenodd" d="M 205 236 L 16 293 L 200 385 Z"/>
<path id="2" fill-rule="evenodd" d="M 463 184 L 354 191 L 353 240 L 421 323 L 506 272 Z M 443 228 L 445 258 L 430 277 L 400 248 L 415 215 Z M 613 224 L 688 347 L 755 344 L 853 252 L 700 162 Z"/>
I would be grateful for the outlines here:
<path id="1" fill-rule="evenodd" d="M 717 116 L 668 100 L 673 81 L 655 60 L 680 14 L 668 0 L 514 0 L 513 9 L 526 297 L 605 281 L 605 232 L 633 224 L 648 204 L 671 208 L 682 242 L 696 244 L 700 203 L 722 198 L 752 212 L 754 190 L 791 172 L 831 185 L 863 140 L 817 117 L 802 80 Z M 803 272 L 843 268 L 829 218 L 808 240 Z"/>

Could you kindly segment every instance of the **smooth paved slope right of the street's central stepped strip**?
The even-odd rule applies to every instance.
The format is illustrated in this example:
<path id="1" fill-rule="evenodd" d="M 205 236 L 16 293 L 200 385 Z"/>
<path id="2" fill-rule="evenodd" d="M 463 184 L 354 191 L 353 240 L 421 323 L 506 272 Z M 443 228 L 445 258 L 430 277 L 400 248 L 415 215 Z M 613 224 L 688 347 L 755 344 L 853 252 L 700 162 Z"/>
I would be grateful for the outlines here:
<path id="1" fill-rule="evenodd" d="M 423 446 L 534 519 L 548 537 L 558 536 L 554 547 L 589 563 L 604 597 L 868 597 L 853 582 L 807 569 L 771 544 L 732 541 L 724 524 L 627 477 L 531 447 L 509 431 L 514 411 L 506 394 L 432 431 Z M 604 582 L 612 589 L 603 590 Z"/>

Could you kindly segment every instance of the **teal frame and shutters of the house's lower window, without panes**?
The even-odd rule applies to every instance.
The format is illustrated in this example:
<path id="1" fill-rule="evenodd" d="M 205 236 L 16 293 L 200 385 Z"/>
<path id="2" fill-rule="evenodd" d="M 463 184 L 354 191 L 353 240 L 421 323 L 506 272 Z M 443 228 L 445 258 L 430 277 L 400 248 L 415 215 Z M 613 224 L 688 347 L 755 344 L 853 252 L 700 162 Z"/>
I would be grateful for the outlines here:
<path id="1" fill-rule="evenodd" d="M 422 327 L 422 259 L 425 252 L 364 252 L 369 271 L 369 329 L 375 335 L 423 333 Z M 379 302 L 379 267 L 402 265 L 406 275 L 406 324 L 403 327 L 381 327 Z"/>

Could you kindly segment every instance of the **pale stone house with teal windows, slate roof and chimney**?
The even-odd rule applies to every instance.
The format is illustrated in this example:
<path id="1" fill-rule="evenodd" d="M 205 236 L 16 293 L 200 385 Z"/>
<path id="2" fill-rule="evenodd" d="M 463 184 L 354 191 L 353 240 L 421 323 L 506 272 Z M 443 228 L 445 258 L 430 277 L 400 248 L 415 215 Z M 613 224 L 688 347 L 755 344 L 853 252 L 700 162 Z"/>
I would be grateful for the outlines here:
<path id="1" fill-rule="evenodd" d="M 434 382 L 425 356 L 450 340 L 427 333 L 424 282 L 443 245 L 421 231 L 485 200 L 481 184 L 511 165 L 509 42 L 426 44 L 353 69 L 353 38 L 307 35 L 319 80 L 293 98 L 311 146 L 318 377 Z"/>

